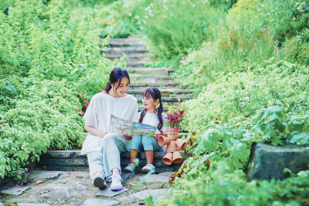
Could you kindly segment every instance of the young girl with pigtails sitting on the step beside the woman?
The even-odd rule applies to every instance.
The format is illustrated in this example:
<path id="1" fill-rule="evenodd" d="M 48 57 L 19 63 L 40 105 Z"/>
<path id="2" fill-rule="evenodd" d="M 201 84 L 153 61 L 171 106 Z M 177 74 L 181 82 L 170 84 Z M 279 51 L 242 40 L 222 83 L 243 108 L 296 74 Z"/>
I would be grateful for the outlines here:
<path id="1" fill-rule="evenodd" d="M 155 166 L 153 166 L 154 151 L 159 152 L 162 149 L 158 144 L 158 138 L 163 134 L 166 136 L 167 133 L 164 127 L 167 115 L 163 113 L 160 90 L 156 87 L 150 87 L 143 92 L 142 96 L 144 110 L 138 113 L 138 122 L 150 124 L 156 127 L 157 130 L 154 137 L 141 135 L 133 136 L 130 150 L 131 163 L 125 167 L 124 171 L 126 172 L 135 172 L 136 165 L 133 163 L 133 159 L 137 157 L 138 149 L 146 153 L 147 165 L 143 167 L 142 171 L 145 173 L 151 170 L 155 171 Z M 158 108 L 157 104 L 159 104 Z"/>

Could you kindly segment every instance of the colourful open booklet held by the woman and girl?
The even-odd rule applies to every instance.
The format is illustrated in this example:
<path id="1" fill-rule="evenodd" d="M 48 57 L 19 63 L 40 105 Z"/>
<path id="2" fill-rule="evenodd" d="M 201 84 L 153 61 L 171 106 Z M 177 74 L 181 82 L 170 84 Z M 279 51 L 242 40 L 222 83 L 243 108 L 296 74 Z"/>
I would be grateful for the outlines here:
<path id="1" fill-rule="evenodd" d="M 131 122 L 129 120 L 123 120 L 119 117 L 111 115 L 111 122 L 109 125 L 110 132 L 122 133 L 132 136 L 134 134 L 154 136 L 156 130 L 156 127 L 149 124 Z"/>

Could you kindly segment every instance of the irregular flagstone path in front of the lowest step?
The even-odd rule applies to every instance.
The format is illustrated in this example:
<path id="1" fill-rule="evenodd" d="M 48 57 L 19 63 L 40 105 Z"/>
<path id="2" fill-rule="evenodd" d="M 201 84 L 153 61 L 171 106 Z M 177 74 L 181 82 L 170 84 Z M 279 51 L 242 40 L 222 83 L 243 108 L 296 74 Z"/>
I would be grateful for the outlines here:
<path id="1" fill-rule="evenodd" d="M 55 174 L 58 173 L 55 177 Z M 108 187 L 100 191 L 93 187 L 87 172 L 46 172 L 32 171 L 31 175 L 46 179 L 36 183 L 36 178 L 24 187 L 12 186 L 0 191 L 0 206 L 47 206 L 47 205 L 141 205 L 152 196 L 153 200 L 164 195 L 169 197 L 169 173 L 151 174 L 150 177 L 134 192 L 135 185 L 145 177 L 145 174 L 123 173 L 122 190 L 111 191 Z M 66 174 L 66 175 L 63 175 Z M 62 175 L 62 176 L 61 176 Z M 88 178 L 87 178 L 88 177 Z M 164 188 L 161 188 L 164 187 Z"/>

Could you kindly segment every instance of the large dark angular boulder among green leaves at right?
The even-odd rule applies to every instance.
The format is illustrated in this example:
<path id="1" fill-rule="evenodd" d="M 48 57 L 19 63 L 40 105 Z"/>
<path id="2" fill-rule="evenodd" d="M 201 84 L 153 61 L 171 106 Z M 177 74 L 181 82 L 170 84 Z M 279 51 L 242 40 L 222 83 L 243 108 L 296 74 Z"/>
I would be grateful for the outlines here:
<path id="1" fill-rule="evenodd" d="M 284 173 L 288 168 L 292 173 L 309 169 L 308 145 L 286 143 L 283 146 L 273 146 L 264 143 L 253 143 L 247 169 L 247 180 L 252 179 L 285 179 L 290 173 Z"/>

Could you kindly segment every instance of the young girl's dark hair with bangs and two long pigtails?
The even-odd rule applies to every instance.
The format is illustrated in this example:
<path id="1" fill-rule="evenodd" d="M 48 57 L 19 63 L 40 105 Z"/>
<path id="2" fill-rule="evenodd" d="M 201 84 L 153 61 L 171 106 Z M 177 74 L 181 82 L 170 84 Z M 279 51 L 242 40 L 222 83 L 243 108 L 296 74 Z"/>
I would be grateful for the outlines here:
<path id="1" fill-rule="evenodd" d="M 155 113 L 157 113 L 157 119 L 159 121 L 159 125 L 158 125 L 158 129 L 159 131 L 162 133 L 162 127 L 163 127 L 163 119 L 162 119 L 162 113 L 163 113 L 163 105 L 162 105 L 162 100 L 161 100 L 161 92 L 158 88 L 156 87 L 149 87 L 148 89 L 146 89 L 144 92 L 143 92 L 143 97 L 147 97 L 147 98 L 152 98 L 154 100 L 157 100 L 159 99 L 159 107 L 155 109 Z M 139 123 L 142 123 L 143 121 L 143 118 L 146 114 L 146 111 L 147 109 L 143 109 L 142 113 L 141 113 L 141 117 L 139 118 L 138 122 Z M 157 112 L 156 112 L 157 111 Z"/>

